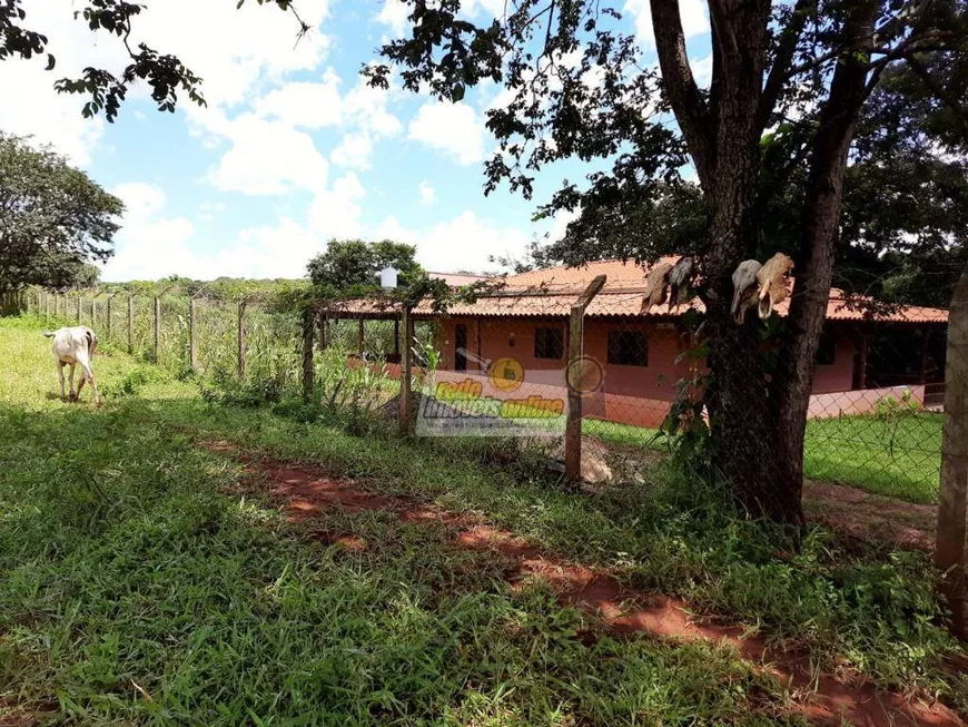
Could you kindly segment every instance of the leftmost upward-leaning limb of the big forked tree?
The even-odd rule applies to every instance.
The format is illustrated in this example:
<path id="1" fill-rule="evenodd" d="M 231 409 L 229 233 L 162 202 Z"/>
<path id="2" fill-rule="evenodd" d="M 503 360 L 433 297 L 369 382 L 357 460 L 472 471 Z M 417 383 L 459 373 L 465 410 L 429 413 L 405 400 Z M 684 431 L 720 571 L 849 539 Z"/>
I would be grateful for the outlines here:
<path id="1" fill-rule="evenodd" d="M 685 33 L 679 14 L 679 0 L 652 0 L 652 28 L 655 50 L 669 102 L 695 161 L 699 179 L 707 189 L 712 188 L 712 129 L 709 109 L 689 66 Z"/>

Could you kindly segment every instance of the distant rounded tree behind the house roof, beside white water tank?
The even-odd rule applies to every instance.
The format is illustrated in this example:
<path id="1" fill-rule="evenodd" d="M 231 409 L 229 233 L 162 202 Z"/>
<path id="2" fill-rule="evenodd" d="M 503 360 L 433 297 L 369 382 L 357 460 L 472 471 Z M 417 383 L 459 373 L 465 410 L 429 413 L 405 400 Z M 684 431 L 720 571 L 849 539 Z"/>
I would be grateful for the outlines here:
<path id="1" fill-rule="evenodd" d="M 307 271 L 314 285 L 333 291 L 377 285 L 379 272 L 388 266 L 399 271 L 401 285 L 409 285 L 426 276 L 414 259 L 416 252 L 413 245 L 388 239 L 332 239 L 325 253 L 309 261 Z"/>

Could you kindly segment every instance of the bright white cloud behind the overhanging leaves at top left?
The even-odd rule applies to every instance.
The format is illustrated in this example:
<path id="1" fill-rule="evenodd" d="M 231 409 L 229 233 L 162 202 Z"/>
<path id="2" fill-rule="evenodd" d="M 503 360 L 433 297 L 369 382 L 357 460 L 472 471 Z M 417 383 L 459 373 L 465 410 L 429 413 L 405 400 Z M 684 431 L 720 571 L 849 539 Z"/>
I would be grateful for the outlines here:
<path id="1" fill-rule="evenodd" d="M 78 3 L 28 4 L 26 24 L 41 29 L 48 37 L 48 50 L 57 58 L 57 67 L 45 71 L 43 57 L 0 63 L 0 95 L 8 99 L 0 106 L 0 128 L 33 135 L 38 144 L 51 144 L 75 164 L 87 166 L 105 132 L 103 119 L 82 118 L 85 99 L 58 95 L 53 82 L 79 77 L 87 66 L 117 73 L 128 58 L 118 38 L 103 31 L 93 33 L 83 19 L 73 18 Z M 319 26 L 328 12 L 328 0 L 307 3 L 299 10 L 313 31 L 296 43 L 295 17 L 275 7 L 246 3 L 236 10 L 231 1 L 152 2 L 135 20 L 131 46 L 145 41 L 160 52 L 179 56 L 204 79 L 203 94 L 210 106 L 237 104 L 250 97 L 261 79 L 278 80 L 287 72 L 308 70 L 322 61 L 328 38 Z M 131 90 L 128 102 L 147 97 L 142 83 Z M 182 108 L 191 106 L 184 94 L 180 101 Z"/>

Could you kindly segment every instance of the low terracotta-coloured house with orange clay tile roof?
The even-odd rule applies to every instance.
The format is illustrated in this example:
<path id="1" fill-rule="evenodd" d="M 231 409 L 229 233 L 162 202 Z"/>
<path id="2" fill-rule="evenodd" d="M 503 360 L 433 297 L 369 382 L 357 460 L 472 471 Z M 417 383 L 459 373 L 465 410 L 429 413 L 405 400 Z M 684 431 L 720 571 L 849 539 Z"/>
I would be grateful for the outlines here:
<path id="1" fill-rule="evenodd" d="M 674 263 L 676 258 L 665 258 Z M 483 386 L 500 384 L 502 371 L 520 372 L 521 394 L 547 395 L 565 387 L 569 314 L 572 305 L 597 276 L 605 284 L 585 311 L 583 354 L 595 369 L 595 392 L 585 414 L 641 426 L 658 426 L 678 393 L 679 382 L 695 376 L 704 362 L 690 356 L 694 338 L 683 315 L 701 314 L 699 299 L 682 305 L 669 302 L 642 310 L 649 267 L 633 262 L 602 261 L 582 267 L 553 267 L 494 281 L 494 289 L 473 303 L 435 313 L 429 303 L 413 311 L 416 320 L 437 323 L 438 375 L 476 377 Z M 796 295 L 796 283 L 793 283 Z M 811 416 L 836 416 L 871 411 L 896 387 L 910 390 L 923 402 L 929 383 L 923 365 L 909 381 L 871 389 L 868 346 L 885 327 L 919 331 L 927 342 L 944 342 L 948 313 L 938 308 L 893 306 L 872 313 L 865 301 L 832 289 L 813 381 Z M 869 301 L 868 301 L 869 303 Z M 784 316 L 789 299 L 774 308 Z M 324 312 L 330 317 L 394 318 L 398 310 L 375 301 L 344 301 Z M 750 312 L 755 315 L 755 310 Z M 918 351 L 911 351 L 918 356 Z M 513 362 L 510 365 L 508 362 Z M 496 373 L 495 373 L 496 372 Z M 877 382 L 875 382 L 877 383 Z M 498 385 L 500 389 L 500 385 Z"/>

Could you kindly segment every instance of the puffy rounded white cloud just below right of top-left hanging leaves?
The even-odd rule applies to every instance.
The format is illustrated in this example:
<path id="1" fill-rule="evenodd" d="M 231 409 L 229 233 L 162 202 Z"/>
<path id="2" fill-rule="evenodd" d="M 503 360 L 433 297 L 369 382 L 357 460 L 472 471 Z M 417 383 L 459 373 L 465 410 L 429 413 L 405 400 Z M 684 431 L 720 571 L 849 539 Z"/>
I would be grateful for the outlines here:
<path id="1" fill-rule="evenodd" d="M 216 188 L 245 195 L 325 188 L 328 164 L 308 134 L 251 114 L 225 120 L 221 128 L 231 147 L 209 173 Z"/>

